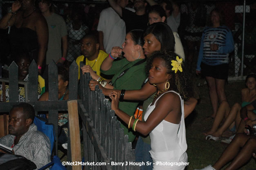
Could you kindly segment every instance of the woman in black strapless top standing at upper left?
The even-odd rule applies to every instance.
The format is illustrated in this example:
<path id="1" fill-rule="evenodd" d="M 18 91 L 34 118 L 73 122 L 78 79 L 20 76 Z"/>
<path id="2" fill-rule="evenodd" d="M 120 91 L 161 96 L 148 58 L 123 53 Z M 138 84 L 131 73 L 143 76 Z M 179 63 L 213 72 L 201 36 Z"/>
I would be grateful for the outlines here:
<path id="1" fill-rule="evenodd" d="M 21 7 L 22 10 L 20 10 Z M 17 0 L 13 2 L 11 10 L 0 20 L 0 29 L 10 29 L 13 26 L 15 26 L 16 29 L 26 31 L 26 33 L 28 31 L 28 34 L 35 34 L 36 38 L 33 40 L 37 40 L 38 46 L 35 47 L 36 49 L 29 49 L 27 52 L 33 53 L 34 51 L 38 51 L 38 53 L 33 53 L 31 59 L 36 60 L 38 72 L 42 73 L 48 43 L 48 27 L 45 18 L 36 11 L 34 0 Z M 15 28 L 10 29 L 10 35 L 13 29 Z M 15 36 L 14 39 L 15 38 L 17 37 Z M 30 39 L 24 38 L 24 43 L 30 43 L 27 45 L 27 48 L 35 45 L 34 42 L 27 42 L 26 40 L 29 41 Z M 13 43 L 15 44 L 15 42 Z M 15 46 L 22 45 L 22 42 L 20 43 L 21 44 L 15 44 Z M 14 46 L 12 47 L 14 48 Z"/>

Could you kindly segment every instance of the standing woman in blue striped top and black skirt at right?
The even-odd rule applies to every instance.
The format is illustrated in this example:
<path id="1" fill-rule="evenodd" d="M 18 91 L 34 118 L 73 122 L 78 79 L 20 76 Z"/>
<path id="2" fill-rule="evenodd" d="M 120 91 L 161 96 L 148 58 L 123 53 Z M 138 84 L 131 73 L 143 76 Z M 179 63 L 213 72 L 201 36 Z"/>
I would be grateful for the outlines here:
<path id="1" fill-rule="evenodd" d="M 201 73 L 206 77 L 213 114 L 215 117 L 218 102 L 226 101 L 224 91 L 225 81 L 228 77 L 229 53 L 234 50 L 232 32 L 223 24 L 223 15 L 218 9 L 213 9 L 210 14 L 211 26 L 203 31 L 200 50 L 197 60 L 196 74 Z"/>

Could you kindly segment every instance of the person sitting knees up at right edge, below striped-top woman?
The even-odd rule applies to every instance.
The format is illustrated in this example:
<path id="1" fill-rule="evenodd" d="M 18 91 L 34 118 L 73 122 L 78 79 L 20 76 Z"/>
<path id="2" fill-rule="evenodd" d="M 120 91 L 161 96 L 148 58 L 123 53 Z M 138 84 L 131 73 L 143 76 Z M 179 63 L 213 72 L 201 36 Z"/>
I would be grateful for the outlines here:
<path id="1" fill-rule="evenodd" d="M 224 135 L 223 132 L 225 132 L 227 128 L 229 128 L 229 131 L 232 130 L 231 132 L 233 134 L 227 134 L 227 136 L 224 137 L 234 135 L 234 132 L 236 132 L 236 128 L 238 128 L 241 121 L 240 109 L 244 106 L 247 106 L 256 99 L 256 75 L 247 75 L 245 79 L 245 84 L 247 88 L 243 88 L 241 91 L 242 104 L 240 105 L 236 103 L 230 109 L 227 101 L 223 101 L 218 108 L 213 126 L 208 132 L 205 133 L 205 135 L 207 136 L 206 139 L 218 140 L 219 137 Z M 256 110 L 253 110 L 253 112 L 256 113 Z M 220 128 L 218 128 L 221 121 L 223 121 L 223 117 L 225 118 L 225 122 Z"/>

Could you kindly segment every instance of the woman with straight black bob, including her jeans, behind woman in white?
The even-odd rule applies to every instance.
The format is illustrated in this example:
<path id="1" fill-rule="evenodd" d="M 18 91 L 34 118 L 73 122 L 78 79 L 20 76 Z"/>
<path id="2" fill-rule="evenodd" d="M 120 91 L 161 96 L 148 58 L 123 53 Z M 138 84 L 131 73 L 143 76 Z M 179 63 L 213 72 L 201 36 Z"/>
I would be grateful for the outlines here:
<path id="1" fill-rule="evenodd" d="M 163 23 L 163 22 L 157 22 L 157 23 L 152 23 L 147 30 L 145 31 L 144 35 L 144 54 L 149 58 L 151 53 L 154 51 L 174 51 L 174 34 L 171 31 L 170 27 Z M 120 55 L 120 52 L 117 52 L 117 55 Z M 147 106 L 153 101 L 154 94 L 157 91 L 156 86 L 149 84 L 149 82 L 146 79 L 146 84 L 142 86 L 140 90 L 131 90 L 131 91 L 125 91 L 124 94 L 124 99 L 125 100 L 140 100 L 144 101 L 143 103 L 143 109 L 144 112 L 147 109 Z M 91 80 L 90 85 L 93 84 L 93 86 L 89 86 L 91 90 L 95 89 L 95 86 L 97 84 L 96 81 Z M 112 89 L 107 89 L 107 88 L 102 88 L 102 86 L 99 86 L 102 89 L 102 92 L 105 95 L 111 95 L 112 91 L 118 91 L 119 94 L 121 93 L 121 90 L 112 90 Z M 197 100 L 193 97 L 190 97 L 189 100 L 185 101 L 184 103 L 184 111 L 185 111 L 185 117 L 187 117 L 196 107 Z M 142 119 L 143 119 L 142 114 Z M 149 137 L 146 137 L 147 139 Z M 147 162 L 150 161 L 152 162 L 152 159 L 149 155 L 149 150 L 150 150 L 150 142 L 148 141 L 147 143 L 142 141 L 142 138 L 139 137 L 138 141 L 141 141 L 140 144 L 142 146 L 136 147 L 136 150 L 140 150 L 142 155 L 140 158 L 143 159 L 143 161 Z M 137 142 L 138 145 L 139 142 Z M 138 152 L 140 152 L 138 151 Z M 137 151 L 136 151 L 137 153 Z M 138 154 L 137 154 L 138 155 Z M 137 161 L 137 156 L 136 156 L 136 161 Z M 152 164 L 153 165 L 153 164 Z M 142 169 L 145 168 L 145 170 L 152 169 L 152 166 L 142 166 Z"/>

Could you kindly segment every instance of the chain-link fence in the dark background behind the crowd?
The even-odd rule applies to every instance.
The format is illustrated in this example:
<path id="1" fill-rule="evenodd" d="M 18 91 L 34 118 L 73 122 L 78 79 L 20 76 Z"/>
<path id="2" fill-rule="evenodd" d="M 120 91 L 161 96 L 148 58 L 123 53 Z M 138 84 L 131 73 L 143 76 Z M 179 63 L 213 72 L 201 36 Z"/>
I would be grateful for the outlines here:
<path id="1" fill-rule="evenodd" d="M 0 0 L 0 17 L 8 12 L 12 2 Z M 100 12 L 109 7 L 109 4 L 106 0 L 91 2 L 58 0 L 53 2 L 54 12 L 62 15 L 67 23 L 69 37 L 67 60 L 72 62 L 81 55 L 79 40 L 89 31 L 97 30 Z M 235 50 L 229 55 L 229 80 L 244 79 L 245 75 L 256 73 L 256 2 L 254 0 L 186 0 L 178 2 L 181 13 L 188 12 L 189 2 L 200 3 L 200 6 L 205 8 L 207 16 L 214 7 L 221 9 L 225 15 L 225 25 L 232 30 L 235 43 Z M 0 55 L 1 62 L 3 62 L 8 55 L 8 47 L 4 44 L 4 40 L 8 37 L 6 31 L 0 30 L 0 34 Z M 183 46 L 186 50 L 185 44 Z M 197 60 L 197 57 L 194 57 L 194 60 Z"/>

